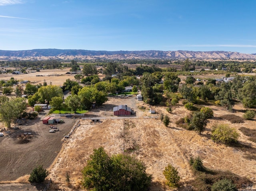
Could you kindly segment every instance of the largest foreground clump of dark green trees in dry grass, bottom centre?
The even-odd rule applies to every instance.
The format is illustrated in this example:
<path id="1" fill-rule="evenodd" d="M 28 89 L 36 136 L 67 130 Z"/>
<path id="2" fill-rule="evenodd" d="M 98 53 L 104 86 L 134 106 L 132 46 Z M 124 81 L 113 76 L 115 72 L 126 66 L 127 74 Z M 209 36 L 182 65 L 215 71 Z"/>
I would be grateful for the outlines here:
<path id="1" fill-rule="evenodd" d="M 83 187 L 95 191 L 146 191 L 152 179 L 136 158 L 122 154 L 109 157 L 102 147 L 94 149 L 82 173 Z"/>

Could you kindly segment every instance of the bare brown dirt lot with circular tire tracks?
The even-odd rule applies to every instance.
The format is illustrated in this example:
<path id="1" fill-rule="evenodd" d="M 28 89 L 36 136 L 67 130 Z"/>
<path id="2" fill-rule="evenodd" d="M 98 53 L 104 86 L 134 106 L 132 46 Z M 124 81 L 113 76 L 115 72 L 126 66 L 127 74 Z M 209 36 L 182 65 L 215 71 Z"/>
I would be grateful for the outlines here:
<path id="1" fill-rule="evenodd" d="M 46 113 L 40 114 L 35 120 L 4 132 L 0 137 L 0 181 L 13 181 L 18 177 L 30 174 L 37 165 L 50 167 L 62 147 L 62 139 L 75 124 L 73 118 L 63 118 L 64 124 L 57 124 L 58 132 L 49 133 L 49 125 L 42 124 Z M 30 140 L 20 144 L 20 136 L 29 134 Z M 28 134 L 26 134 L 28 135 Z M 19 142 L 19 143 L 18 143 Z"/>

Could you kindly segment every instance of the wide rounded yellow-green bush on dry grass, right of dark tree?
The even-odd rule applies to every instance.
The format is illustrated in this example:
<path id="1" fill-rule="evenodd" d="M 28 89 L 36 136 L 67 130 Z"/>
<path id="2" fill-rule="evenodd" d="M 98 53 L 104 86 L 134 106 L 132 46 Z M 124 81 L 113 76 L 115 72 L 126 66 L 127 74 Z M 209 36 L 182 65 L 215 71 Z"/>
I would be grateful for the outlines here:
<path id="1" fill-rule="evenodd" d="M 228 144 L 237 142 L 239 137 L 235 128 L 230 128 L 228 124 L 219 124 L 212 128 L 212 140 Z"/>

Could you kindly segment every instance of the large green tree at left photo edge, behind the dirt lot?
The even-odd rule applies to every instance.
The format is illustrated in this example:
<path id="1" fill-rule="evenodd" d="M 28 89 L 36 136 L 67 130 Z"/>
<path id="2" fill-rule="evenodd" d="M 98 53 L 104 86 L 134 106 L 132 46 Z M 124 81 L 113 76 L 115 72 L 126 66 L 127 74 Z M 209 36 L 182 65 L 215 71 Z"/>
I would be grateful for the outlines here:
<path id="1" fill-rule="evenodd" d="M 20 117 L 26 109 L 26 100 L 24 98 L 10 98 L 1 102 L 0 120 L 7 128 L 11 127 L 11 123 Z"/>

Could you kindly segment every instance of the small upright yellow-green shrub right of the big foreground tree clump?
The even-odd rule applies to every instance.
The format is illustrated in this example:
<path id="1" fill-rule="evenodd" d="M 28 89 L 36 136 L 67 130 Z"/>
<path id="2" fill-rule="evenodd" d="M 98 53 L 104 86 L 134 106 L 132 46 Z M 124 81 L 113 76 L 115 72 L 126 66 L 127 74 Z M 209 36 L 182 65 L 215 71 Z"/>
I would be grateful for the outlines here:
<path id="1" fill-rule="evenodd" d="M 167 180 L 166 185 L 171 188 L 177 187 L 177 183 L 180 181 L 180 176 L 178 175 L 178 170 L 171 164 L 168 164 L 164 171 L 164 177 Z"/>

